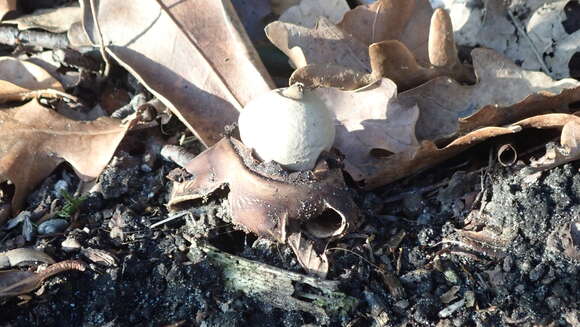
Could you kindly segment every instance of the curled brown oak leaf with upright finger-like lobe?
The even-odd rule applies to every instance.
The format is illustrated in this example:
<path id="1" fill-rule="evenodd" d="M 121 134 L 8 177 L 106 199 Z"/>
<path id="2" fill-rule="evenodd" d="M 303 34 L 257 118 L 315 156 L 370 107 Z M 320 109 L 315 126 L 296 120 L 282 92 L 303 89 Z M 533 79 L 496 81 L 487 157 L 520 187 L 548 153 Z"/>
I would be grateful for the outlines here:
<path id="1" fill-rule="evenodd" d="M 420 65 L 402 42 L 388 40 L 369 46 L 371 73 L 332 64 L 309 64 L 292 74 L 290 84 L 300 82 L 311 87 L 354 90 L 386 77 L 397 84 L 399 91 L 404 91 L 439 76 L 475 82 L 472 67 L 459 61 L 451 19 L 443 9 L 433 12 L 428 44 L 429 65 Z"/>

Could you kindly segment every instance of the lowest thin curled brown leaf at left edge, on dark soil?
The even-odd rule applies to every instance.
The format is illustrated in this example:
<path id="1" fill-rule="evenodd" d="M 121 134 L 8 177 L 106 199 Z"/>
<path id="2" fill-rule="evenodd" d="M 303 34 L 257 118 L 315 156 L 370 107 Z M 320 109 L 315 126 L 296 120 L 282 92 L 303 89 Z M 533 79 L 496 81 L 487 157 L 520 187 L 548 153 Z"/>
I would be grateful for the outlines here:
<path id="1" fill-rule="evenodd" d="M 85 270 L 81 261 L 68 260 L 55 263 L 41 272 L 0 271 L 0 298 L 17 296 L 34 291 L 49 277 L 67 270 Z"/>

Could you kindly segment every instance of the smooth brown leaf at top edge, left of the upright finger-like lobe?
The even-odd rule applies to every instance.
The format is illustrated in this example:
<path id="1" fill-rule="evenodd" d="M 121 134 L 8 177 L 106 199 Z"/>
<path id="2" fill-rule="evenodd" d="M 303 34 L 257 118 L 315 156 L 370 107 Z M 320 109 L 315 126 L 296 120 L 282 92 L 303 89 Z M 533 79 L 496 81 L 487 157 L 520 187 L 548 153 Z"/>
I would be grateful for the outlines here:
<path id="1" fill-rule="evenodd" d="M 367 46 L 399 40 L 420 63 L 427 63 L 432 14 L 427 0 L 377 0 L 347 12 L 338 26 Z"/>

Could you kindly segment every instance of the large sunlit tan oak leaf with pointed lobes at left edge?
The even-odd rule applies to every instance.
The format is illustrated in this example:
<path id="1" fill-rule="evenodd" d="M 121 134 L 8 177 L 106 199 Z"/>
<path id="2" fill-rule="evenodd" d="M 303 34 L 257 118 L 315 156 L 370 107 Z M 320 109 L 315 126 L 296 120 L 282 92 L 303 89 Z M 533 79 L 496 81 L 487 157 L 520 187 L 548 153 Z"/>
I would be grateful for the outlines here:
<path id="1" fill-rule="evenodd" d="M 105 168 L 131 122 L 103 117 L 74 121 L 36 99 L 0 110 L 0 179 L 15 185 L 12 210 L 60 163 L 67 161 L 83 180 Z"/>

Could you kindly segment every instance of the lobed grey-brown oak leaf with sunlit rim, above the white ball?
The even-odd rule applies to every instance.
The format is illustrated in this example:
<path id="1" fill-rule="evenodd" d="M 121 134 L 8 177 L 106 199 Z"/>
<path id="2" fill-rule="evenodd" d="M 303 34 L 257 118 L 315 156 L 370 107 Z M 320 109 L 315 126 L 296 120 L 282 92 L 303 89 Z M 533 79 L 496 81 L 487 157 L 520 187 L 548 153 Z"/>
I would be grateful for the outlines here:
<path id="1" fill-rule="evenodd" d="M 266 36 L 290 58 L 296 68 L 332 64 L 358 72 L 370 72 L 367 46 L 324 17 L 313 29 L 273 22 L 266 26 Z"/>

